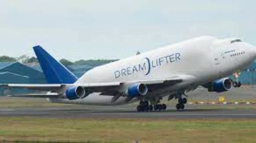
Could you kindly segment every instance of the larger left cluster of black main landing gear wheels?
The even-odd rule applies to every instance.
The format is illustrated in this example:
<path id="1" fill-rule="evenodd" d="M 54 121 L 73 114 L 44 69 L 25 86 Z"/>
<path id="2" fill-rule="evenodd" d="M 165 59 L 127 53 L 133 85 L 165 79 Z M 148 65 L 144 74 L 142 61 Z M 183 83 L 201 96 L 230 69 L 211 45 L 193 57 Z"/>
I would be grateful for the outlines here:
<path id="1" fill-rule="evenodd" d="M 138 112 L 144 112 L 144 111 L 160 111 L 160 110 L 166 110 L 165 104 L 155 104 L 155 105 L 149 105 L 148 101 L 141 101 L 140 105 L 137 106 Z"/>

